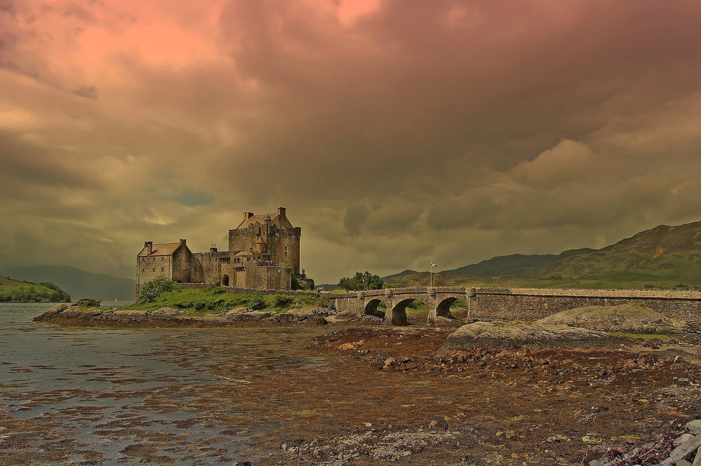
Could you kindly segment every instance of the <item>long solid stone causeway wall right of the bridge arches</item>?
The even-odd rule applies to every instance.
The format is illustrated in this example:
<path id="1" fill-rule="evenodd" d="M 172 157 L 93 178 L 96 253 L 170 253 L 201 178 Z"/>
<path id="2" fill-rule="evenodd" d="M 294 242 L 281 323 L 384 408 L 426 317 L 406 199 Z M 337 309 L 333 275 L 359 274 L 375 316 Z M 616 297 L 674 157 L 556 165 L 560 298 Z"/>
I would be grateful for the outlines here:
<path id="1" fill-rule="evenodd" d="M 476 288 L 470 311 L 479 320 L 538 320 L 583 306 L 644 303 L 667 317 L 701 324 L 701 293 L 634 289 Z"/>

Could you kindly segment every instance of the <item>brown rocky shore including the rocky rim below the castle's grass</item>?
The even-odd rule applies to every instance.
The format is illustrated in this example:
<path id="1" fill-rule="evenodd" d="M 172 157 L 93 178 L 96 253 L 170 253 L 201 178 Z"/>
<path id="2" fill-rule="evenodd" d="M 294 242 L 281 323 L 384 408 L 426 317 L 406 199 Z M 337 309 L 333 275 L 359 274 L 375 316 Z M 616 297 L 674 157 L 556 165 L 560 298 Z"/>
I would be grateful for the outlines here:
<path id="1" fill-rule="evenodd" d="M 614 314 L 617 320 L 619 315 Z M 417 322 L 420 317 L 414 316 Z M 625 328 L 620 325 L 630 324 L 630 318 L 612 324 Z M 175 308 L 61 305 L 36 320 L 95 327 L 314 326 L 300 329 L 306 338 L 295 336 L 287 345 L 296 357 L 323 361 L 324 369 L 292 365 L 239 372 L 240 364 L 220 362 L 208 369 L 219 380 L 203 388 L 198 401 L 203 412 L 236 403 L 261 422 L 285 425 L 257 439 L 253 453 L 227 456 L 229 464 L 701 462 L 698 446 L 693 450 L 701 434 L 689 427 L 701 415 L 701 338 L 693 333 L 642 338 L 542 322 L 392 327 L 377 317 L 327 308 L 286 313 L 240 308 L 198 316 Z M 656 320 L 652 315 L 642 324 Z M 578 321 L 586 324 L 581 317 Z M 664 324 L 659 330 L 666 330 Z M 573 343 L 575 336 L 579 340 Z M 173 351 L 175 359 L 207 357 L 188 345 Z M 252 361 L 247 364 L 258 364 Z M 243 378 L 245 383 L 236 383 Z M 206 404 L 212 400 L 216 404 Z M 162 402 L 159 395 L 153 406 Z M 681 446 L 683 451 L 675 450 Z M 146 449 L 142 457 L 158 460 Z"/>

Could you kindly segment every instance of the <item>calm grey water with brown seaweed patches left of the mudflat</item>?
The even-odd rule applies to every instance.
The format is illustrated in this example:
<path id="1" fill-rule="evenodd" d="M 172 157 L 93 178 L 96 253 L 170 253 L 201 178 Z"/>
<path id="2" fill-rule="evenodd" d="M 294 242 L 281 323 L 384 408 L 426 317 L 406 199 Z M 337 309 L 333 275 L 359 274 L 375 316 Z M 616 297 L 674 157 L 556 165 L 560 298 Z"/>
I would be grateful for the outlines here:
<path id="1" fill-rule="evenodd" d="M 284 426 L 209 394 L 267 371 L 326 369 L 289 350 L 308 341 L 307 329 L 32 322 L 51 306 L 0 304 L 0 451 L 13 458 L 0 464 L 134 463 L 147 453 L 182 465 L 255 459 L 266 453 L 257 437 Z"/>

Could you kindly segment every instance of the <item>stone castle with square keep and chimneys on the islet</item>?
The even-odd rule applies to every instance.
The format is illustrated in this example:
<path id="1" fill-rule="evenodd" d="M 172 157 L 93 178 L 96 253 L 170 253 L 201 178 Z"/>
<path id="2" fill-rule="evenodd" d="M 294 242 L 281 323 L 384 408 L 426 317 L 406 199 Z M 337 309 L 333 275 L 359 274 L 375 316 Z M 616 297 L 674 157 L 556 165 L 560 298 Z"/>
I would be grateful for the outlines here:
<path id="1" fill-rule="evenodd" d="M 292 226 L 285 207 L 254 215 L 229 230 L 229 250 L 191 252 L 186 240 L 154 244 L 144 242 L 137 254 L 137 295 L 144 283 L 167 278 L 178 283 L 218 283 L 248 289 L 292 289 L 292 274 L 299 273 L 301 228 Z"/>

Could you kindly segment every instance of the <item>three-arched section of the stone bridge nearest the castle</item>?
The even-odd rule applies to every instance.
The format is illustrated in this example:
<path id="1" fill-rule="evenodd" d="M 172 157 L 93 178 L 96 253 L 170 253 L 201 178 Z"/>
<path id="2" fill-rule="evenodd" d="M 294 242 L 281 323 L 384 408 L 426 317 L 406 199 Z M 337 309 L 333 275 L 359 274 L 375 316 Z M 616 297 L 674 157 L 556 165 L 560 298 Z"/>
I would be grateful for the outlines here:
<path id="1" fill-rule="evenodd" d="M 465 287 L 414 287 L 371 289 L 365 292 L 332 293 L 326 295 L 339 312 L 351 311 L 358 315 L 376 315 L 393 325 L 407 325 L 407 306 L 411 301 L 421 301 L 428 306 L 428 323 L 437 316 L 453 317 L 450 306 L 458 299 L 470 303 L 474 288 Z M 384 303 L 386 310 L 378 308 Z"/>

